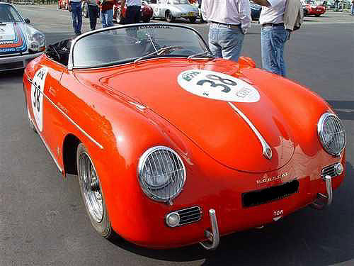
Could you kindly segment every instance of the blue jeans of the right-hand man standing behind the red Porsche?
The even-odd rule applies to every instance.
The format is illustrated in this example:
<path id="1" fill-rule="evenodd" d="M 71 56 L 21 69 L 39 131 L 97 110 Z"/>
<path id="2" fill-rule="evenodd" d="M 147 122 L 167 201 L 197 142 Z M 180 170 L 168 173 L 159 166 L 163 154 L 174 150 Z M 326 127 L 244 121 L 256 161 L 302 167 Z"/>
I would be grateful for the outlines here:
<path id="1" fill-rule="evenodd" d="M 284 26 L 266 26 L 261 29 L 261 50 L 263 69 L 286 76 L 284 46 L 290 33 Z"/>

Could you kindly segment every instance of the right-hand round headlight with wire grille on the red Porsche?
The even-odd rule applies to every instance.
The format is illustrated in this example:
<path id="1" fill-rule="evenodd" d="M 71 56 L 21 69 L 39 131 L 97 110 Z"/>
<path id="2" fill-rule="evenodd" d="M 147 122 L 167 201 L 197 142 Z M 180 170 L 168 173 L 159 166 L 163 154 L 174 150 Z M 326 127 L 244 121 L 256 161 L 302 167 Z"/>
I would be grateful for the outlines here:
<path id="1" fill-rule="evenodd" d="M 341 120 L 333 113 L 324 113 L 317 124 L 319 140 L 330 155 L 339 155 L 346 146 L 346 132 Z"/>

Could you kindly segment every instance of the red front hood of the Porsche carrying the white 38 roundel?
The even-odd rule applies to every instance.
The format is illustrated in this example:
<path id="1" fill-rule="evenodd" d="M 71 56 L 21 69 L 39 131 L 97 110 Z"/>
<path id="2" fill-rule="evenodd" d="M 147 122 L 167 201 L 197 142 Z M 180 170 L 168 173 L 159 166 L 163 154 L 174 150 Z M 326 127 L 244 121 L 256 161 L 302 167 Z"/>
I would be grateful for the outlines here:
<path id="1" fill-rule="evenodd" d="M 100 82 L 158 113 L 222 165 L 246 172 L 276 170 L 285 165 L 294 153 L 292 132 L 285 116 L 267 94 L 273 85 L 252 82 L 252 77 L 269 74 L 254 69 L 249 70 L 246 77 L 237 71 L 237 66 L 228 60 L 214 60 L 205 65 L 143 63 L 130 70 L 125 68 L 109 77 L 102 77 Z M 188 79 L 195 76 L 193 72 L 212 74 L 209 77 L 215 84 L 228 84 L 230 81 L 226 77 L 236 77 L 237 86 L 246 88 L 246 92 L 239 94 L 241 98 L 225 101 L 228 99 L 221 98 L 226 94 L 222 89 L 226 88 L 217 85 L 208 91 L 210 94 L 216 91 L 213 99 L 198 96 L 200 92 L 193 91 L 195 85 L 188 87 Z M 202 80 L 202 77 L 198 79 Z M 274 79 L 276 82 L 279 78 L 274 75 Z M 209 84 L 212 85 L 211 82 Z M 242 99 L 247 88 L 252 95 Z M 260 139 L 233 106 L 244 113 L 268 143 L 273 152 L 270 159 L 263 155 Z"/>

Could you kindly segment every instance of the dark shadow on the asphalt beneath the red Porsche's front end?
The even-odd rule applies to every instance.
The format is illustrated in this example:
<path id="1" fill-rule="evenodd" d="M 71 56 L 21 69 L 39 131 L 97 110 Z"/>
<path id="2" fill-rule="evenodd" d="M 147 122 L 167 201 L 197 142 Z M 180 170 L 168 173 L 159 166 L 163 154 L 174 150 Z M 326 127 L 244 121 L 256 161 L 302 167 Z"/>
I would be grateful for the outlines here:
<path id="1" fill-rule="evenodd" d="M 120 238 L 111 242 L 145 257 L 177 262 L 204 260 L 202 265 L 332 265 L 348 262 L 354 258 L 353 175 L 353 165 L 347 162 L 346 178 L 333 193 L 333 204 L 328 209 L 316 211 L 307 207 L 261 230 L 224 236 L 214 251 L 204 250 L 200 245 L 151 250 Z"/>

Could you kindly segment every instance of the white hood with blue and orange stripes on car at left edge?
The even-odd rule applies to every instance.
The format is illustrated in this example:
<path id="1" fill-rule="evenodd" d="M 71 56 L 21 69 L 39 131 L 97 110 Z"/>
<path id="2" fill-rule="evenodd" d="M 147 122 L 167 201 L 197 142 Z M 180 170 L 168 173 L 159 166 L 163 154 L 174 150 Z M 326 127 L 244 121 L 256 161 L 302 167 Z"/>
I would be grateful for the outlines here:
<path id="1" fill-rule="evenodd" d="M 23 23 L 0 24 L 0 55 L 18 54 L 27 51 L 27 48 Z"/>

